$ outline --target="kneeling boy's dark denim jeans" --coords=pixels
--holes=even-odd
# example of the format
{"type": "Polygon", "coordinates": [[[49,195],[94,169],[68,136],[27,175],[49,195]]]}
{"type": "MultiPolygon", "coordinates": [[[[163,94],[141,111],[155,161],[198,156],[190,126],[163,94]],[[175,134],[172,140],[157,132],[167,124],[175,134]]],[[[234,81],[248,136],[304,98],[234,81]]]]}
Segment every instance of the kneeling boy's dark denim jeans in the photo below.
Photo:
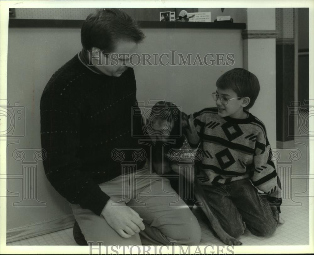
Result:
{"type": "Polygon", "coordinates": [[[210,208],[230,236],[240,237],[246,227],[256,236],[270,236],[276,231],[277,209],[267,205],[248,178],[202,187],[210,208]]]}

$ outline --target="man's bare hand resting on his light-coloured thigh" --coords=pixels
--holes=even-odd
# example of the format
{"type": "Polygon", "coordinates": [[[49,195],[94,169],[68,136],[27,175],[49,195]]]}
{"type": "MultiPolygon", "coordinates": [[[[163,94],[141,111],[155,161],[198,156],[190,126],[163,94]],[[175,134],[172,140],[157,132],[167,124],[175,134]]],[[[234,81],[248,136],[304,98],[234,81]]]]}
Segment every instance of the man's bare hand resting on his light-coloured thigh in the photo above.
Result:
{"type": "Polygon", "coordinates": [[[101,215],[124,238],[130,238],[145,229],[143,219],[124,202],[117,203],[109,199],[101,215]]]}

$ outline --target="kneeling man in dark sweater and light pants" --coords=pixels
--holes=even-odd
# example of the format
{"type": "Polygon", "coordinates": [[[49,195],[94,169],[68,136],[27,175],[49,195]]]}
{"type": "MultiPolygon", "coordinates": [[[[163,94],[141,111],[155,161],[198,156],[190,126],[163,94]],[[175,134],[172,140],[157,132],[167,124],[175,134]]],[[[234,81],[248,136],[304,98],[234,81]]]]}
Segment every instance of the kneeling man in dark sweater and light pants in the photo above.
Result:
{"type": "Polygon", "coordinates": [[[87,242],[141,244],[141,233],[150,244],[196,245],[197,219],[169,181],[152,173],[149,149],[132,136],[143,120],[131,114],[137,99],[129,56],[143,38],[122,10],[100,9],[84,21],[83,50],[53,74],[41,97],[45,173],[87,242]],[[142,152],[136,171],[123,168],[135,151],[142,152]]]}

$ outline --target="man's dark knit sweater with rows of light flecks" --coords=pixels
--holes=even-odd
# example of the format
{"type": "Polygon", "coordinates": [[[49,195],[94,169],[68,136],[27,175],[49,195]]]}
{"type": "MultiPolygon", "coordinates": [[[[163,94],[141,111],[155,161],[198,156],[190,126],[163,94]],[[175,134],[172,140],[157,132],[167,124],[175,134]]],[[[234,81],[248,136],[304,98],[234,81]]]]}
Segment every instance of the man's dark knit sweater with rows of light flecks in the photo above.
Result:
{"type": "MultiPolygon", "coordinates": [[[[98,184],[121,175],[111,151],[142,147],[131,135],[132,118],[133,129],[142,130],[142,117],[132,114],[136,102],[132,68],[111,77],[76,55],[52,75],[40,103],[43,164],[52,186],[70,203],[100,215],[110,197],[98,184]]],[[[132,161],[131,155],[124,160],[132,161]]]]}

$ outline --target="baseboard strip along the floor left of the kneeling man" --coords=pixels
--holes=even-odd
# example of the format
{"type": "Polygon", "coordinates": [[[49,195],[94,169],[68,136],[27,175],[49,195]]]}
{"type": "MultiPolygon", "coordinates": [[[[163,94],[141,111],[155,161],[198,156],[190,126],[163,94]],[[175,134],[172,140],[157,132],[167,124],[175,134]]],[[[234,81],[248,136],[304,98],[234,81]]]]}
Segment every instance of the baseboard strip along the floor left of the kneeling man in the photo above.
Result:
{"type": "Polygon", "coordinates": [[[8,229],[7,243],[71,228],[73,227],[74,221],[74,215],[69,214],[53,220],[46,220],[35,224],[8,229]]]}

